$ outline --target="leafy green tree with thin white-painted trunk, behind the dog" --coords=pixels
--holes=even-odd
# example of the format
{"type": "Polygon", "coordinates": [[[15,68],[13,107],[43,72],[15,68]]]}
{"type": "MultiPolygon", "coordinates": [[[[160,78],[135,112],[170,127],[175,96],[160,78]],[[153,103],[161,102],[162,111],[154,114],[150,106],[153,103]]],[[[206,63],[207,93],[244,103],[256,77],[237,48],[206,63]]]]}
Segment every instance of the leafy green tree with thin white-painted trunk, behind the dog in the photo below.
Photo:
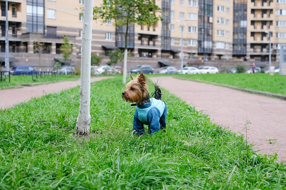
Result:
{"type": "Polygon", "coordinates": [[[127,75],[127,37],[129,26],[133,24],[153,26],[161,19],[156,12],[161,9],[152,0],[103,0],[101,7],[94,7],[94,19],[103,22],[114,20],[114,26],[126,26],[123,83],[127,75]]]}

